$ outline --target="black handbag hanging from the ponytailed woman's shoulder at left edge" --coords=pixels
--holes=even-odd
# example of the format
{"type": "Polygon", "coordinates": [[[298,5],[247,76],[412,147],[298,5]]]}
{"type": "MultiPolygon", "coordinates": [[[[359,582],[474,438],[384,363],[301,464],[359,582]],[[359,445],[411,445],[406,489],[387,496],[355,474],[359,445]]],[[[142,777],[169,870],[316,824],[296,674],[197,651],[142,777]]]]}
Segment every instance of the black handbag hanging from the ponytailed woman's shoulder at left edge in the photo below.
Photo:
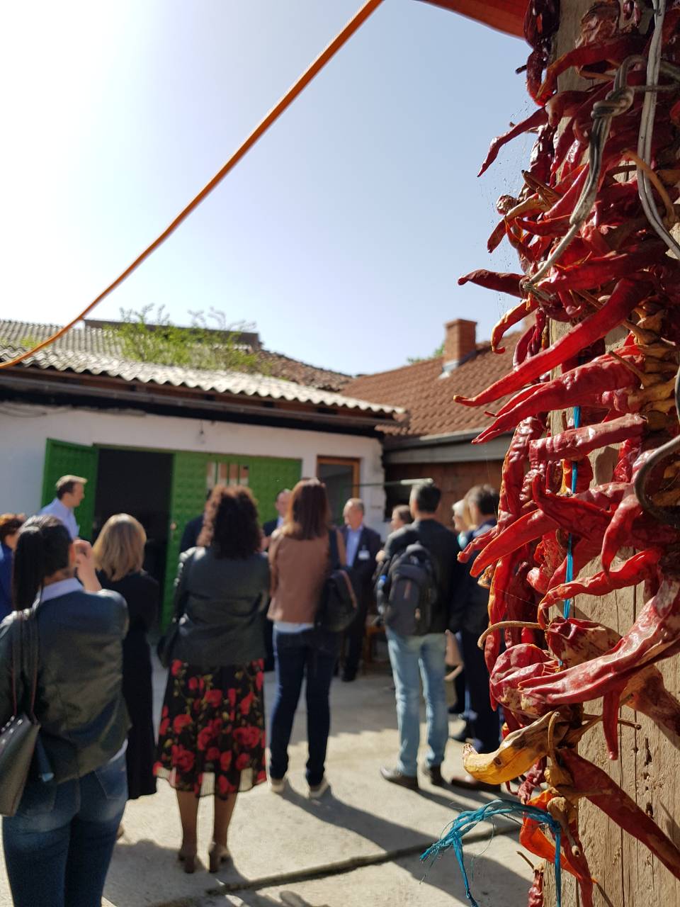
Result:
{"type": "Polygon", "coordinates": [[[14,715],[0,728],[0,815],[14,815],[24,795],[40,724],[34,715],[38,681],[38,635],[34,610],[14,612],[12,629],[14,715]],[[24,683],[21,684],[23,678],[24,683]],[[17,687],[23,689],[21,701],[17,687]]]}

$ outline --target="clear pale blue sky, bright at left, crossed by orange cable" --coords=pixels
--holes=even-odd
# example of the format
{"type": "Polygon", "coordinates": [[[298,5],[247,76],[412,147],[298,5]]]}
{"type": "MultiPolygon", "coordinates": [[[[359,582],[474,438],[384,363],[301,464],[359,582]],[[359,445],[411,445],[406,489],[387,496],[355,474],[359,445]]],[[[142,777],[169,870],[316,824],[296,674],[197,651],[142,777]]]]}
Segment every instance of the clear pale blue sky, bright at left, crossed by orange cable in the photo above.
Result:
{"type": "MultiPolygon", "coordinates": [[[[359,0],[73,0],[5,11],[4,317],[63,323],[219,170],[359,0]],[[39,12],[38,12],[39,11],[39,12]]],[[[454,317],[488,337],[516,269],[486,238],[530,141],[527,47],[385,0],[209,200],[92,317],[163,305],[254,322],[266,346],[348,372],[425,356],[454,317]],[[490,263],[491,262],[491,263],[490,263]]]]}

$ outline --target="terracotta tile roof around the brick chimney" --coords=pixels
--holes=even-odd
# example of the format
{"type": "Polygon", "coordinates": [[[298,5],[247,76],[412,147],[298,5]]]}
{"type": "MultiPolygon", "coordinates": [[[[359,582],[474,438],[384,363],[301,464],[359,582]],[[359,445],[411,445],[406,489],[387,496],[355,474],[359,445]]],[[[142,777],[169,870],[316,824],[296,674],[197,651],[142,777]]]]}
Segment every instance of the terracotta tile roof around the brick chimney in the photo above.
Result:
{"type": "MultiPolygon", "coordinates": [[[[442,377],[443,356],[416,362],[376,375],[362,375],[343,388],[344,394],[375,403],[403,406],[408,411],[401,425],[385,426],[388,434],[423,436],[481,430],[491,422],[481,409],[453,403],[454,394],[473,396],[497,381],[512,367],[512,354],[520,333],[504,339],[505,353],[491,352],[488,343],[451,374],[442,377]]],[[[500,405],[500,404],[499,404],[500,405]]]]}

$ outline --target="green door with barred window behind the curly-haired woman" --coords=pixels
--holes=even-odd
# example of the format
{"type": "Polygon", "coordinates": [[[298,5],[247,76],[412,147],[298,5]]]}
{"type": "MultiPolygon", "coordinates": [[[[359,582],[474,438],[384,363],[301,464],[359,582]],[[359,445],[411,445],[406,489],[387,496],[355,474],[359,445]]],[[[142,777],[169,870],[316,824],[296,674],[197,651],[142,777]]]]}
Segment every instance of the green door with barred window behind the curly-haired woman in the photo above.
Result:
{"type": "Polygon", "coordinates": [[[257,500],[260,522],[276,515],[274,501],[281,488],[292,488],[302,472],[302,461],[228,453],[173,455],[170,492],[170,530],[161,625],[172,616],[172,594],[184,527],[203,512],[206,493],[216,483],[247,484],[257,500]]]}

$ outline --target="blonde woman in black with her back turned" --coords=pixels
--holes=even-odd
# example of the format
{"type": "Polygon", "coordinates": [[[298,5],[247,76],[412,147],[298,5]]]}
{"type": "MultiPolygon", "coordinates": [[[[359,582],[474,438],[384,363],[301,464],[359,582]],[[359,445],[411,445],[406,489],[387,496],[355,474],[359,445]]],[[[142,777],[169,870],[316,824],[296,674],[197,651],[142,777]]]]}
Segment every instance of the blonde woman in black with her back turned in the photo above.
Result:
{"type": "Polygon", "coordinates": [[[156,580],[141,569],[145,542],[141,523],[128,513],[116,513],[94,543],[102,588],[120,592],[130,614],[130,629],[122,643],[122,694],[132,724],[126,753],[130,800],[156,793],[151,649],[146,634],[156,620],[160,592],[156,580]]]}

